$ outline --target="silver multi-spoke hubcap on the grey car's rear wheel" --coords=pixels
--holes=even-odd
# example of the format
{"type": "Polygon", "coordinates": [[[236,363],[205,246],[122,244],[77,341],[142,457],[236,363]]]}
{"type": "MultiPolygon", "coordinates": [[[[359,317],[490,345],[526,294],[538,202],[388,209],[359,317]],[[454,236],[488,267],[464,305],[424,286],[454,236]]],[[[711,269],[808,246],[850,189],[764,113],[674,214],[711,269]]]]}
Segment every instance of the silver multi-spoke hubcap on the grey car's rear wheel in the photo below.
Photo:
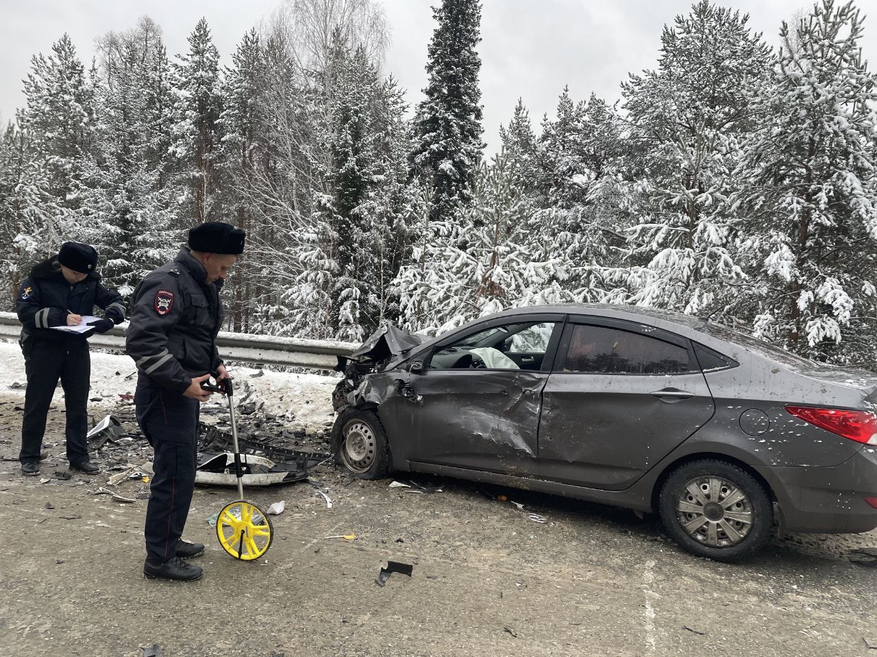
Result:
{"type": "Polygon", "coordinates": [[[755,512],[745,491],[723,477],[695,477],[676,500],[682,529],[709,548],[733,548],[752,530],[755,512]]]}

